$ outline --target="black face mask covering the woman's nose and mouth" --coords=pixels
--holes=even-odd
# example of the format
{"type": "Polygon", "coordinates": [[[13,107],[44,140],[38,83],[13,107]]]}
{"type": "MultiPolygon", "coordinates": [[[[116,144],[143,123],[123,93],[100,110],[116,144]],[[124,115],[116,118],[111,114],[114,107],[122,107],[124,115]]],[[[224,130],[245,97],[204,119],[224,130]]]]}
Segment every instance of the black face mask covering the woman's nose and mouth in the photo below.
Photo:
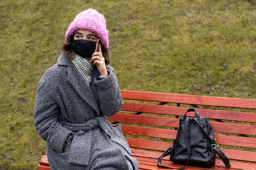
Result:
{"type": "Polygon", "coordinates": [[[95,52],[96,42],[85,39],[74,39],[72,48],[76,54],[83,58],[92,58],[92,53],[95,52]]]}

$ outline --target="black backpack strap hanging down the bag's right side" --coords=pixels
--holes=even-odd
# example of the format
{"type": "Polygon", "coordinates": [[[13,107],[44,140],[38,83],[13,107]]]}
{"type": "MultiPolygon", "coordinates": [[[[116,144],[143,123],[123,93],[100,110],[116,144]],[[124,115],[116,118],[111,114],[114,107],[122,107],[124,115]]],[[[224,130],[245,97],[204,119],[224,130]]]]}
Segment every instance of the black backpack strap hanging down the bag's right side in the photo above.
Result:
{"type": "Polygon", "coordinates": [[[229,168],[231,165],[229,164],[229,159],[226,157],[226,155],[218,148],[215,142],[211,140],[211,138],[207,135],[207,133],[204,131],[202,126],[199,124],[198,120],[196,119],[191,119],[194,120],[198,126],[200,127],[202,134],[204,135],[204,138],[207,140],[207,142],[211,145],[211,149],[213,149],[220,157],[220,159],[223,161],[225,166],[229,168]]]}

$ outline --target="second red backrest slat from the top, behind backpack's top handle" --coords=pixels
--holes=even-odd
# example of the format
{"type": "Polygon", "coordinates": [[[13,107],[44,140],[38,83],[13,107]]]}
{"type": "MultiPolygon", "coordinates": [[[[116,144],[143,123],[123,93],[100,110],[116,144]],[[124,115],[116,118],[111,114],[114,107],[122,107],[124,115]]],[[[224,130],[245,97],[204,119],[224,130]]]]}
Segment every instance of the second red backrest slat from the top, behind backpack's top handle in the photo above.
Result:
{"type": "MultiPolygon", "coordinates": [[[[141,103],[129,103],[124,102],[122,111],[134,111],[141,113],[157,113],[162,115],[174,115],[184,116],[189,107],[173,107],[173,106],[162,106],[152,104],[141,104],[141,103]]],[[[213,109],[196,109],[200,116],[204,116],[208,119],[221,119],[231,120],[238,122],[253,122],[256,123],[256,113],[239,112],[239,111],[223,111],[213,109]]],[[[189,112],[189,117],[195,117],[195,113],[189,112]]]]}

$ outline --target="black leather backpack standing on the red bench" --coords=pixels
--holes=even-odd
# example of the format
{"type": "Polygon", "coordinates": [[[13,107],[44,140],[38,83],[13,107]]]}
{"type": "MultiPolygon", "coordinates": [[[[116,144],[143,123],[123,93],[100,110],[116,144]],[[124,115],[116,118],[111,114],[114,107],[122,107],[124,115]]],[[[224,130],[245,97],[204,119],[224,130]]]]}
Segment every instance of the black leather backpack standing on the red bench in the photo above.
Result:
{"type": "Polygon", "coordinates": [[[183,169],[186,166],[214,166],[216,153],[229,168],[229,159],[216,144],[211,124],[204,116],[199,116],[195,109],[190,108],[180,119],[177,137],[173,146],[168,148],[158,159],[157,166],[170,169],[183,169]],[[186,113],[194,111],[195,118],[186,118],[186,113]],[[161,165],[163,157],[170,155],[170,160],[184,165],[182,168],[171,168],[161,165]]]}

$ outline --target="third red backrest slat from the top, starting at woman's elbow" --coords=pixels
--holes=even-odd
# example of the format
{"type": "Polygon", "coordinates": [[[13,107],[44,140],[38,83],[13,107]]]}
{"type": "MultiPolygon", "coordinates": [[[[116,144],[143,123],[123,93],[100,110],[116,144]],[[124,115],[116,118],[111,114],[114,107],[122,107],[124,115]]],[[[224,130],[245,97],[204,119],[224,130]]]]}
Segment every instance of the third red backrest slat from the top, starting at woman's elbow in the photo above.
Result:
{"type": "MultiPolygon", "coordinates": [[[[115,116],[108,117],[108,120],[116,121],[116,122],[146,124],[146,125],[153,125],[153,126],[165,126],[165,127],[179,126],[179,119],[177,118],[143,116],[143,115],[133,115],[133,114],[126,114],[126,113],[117,113],[115,116]]],[[[213,128],[213,131],[216,131],[216,132],[256,135],[256,126],[253,126],[253,125],[220,123],[220,122],[210,122],[210,124],[213,128]]]]}

